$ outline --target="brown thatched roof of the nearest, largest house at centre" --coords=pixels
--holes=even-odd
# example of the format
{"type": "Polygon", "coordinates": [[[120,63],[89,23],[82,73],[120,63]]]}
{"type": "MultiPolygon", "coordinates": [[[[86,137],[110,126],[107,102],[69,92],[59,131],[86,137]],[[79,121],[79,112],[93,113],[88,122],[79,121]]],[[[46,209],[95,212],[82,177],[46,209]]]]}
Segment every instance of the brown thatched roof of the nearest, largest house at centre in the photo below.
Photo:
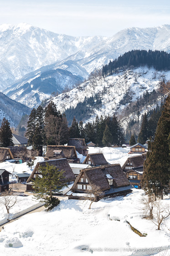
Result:
{"type": "Polygon", "coordinates": [[[129,186],[130,183],[126,178],[121,166],[119,164],[115,165],[103,165],[88,169],[83,169],[80,174],[77,176],[74,185],[72,186],[72,191],[74,191],[77,182],[79,181],[82,173],[88,179],[89,184],[95,184],[101,190],[108,190],[110,189],[110,185],[108,183],[108,178],[106,175],[109,175],[111,179],[113,178],[113,186],[114,187],[126,187],[129,186]]]}

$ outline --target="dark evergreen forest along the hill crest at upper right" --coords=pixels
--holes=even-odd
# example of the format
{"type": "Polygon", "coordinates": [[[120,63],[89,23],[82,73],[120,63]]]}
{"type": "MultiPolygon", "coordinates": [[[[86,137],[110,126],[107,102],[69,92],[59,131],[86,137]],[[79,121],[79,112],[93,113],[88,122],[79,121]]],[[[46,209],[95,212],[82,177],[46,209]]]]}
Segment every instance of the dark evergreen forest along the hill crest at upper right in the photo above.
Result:
{"type": "Polygon", "coordinates": [[[112,75],[117,69],[145,66],[156,70],[170,70],[170,54],[164,51],[132,50],[103,66],[102,75],[112,75]]]}

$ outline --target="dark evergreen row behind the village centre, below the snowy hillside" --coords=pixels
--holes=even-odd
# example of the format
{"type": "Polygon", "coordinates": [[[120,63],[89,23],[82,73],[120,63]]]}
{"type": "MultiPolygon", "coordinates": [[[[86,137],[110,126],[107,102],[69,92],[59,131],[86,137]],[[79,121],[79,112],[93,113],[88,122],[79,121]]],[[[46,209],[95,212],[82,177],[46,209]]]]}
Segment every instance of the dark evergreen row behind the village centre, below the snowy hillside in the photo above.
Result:
{"type": "Polygon", "coordinates": [[[97,146],[122,145],[124,143],[123,129],[115,115],[113,117],[96,117],[95,122],[79,123],[73,118],[70,127],[70,138],[84,138],[86,142],[92,141],[97,146]]]}

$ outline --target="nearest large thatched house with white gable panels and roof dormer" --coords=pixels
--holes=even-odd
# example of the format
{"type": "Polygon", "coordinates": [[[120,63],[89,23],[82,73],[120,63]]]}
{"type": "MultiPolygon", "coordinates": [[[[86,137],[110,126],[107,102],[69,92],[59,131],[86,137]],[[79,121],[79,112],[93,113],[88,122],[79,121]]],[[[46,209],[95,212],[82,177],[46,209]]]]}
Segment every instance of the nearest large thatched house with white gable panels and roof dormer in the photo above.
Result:
{"type": "MultiPolygon", "coordinates": [[[[83,169],[77,176],[72,186],[73,194],[69,197],[74,198],[74,193],[88,193],[93,184],[103,191],[103,197],[126,195],[133,188],[119,164],[103,165],[83,169]]],[[[82,198],[76,195],[75,199],[82,198]]]]}

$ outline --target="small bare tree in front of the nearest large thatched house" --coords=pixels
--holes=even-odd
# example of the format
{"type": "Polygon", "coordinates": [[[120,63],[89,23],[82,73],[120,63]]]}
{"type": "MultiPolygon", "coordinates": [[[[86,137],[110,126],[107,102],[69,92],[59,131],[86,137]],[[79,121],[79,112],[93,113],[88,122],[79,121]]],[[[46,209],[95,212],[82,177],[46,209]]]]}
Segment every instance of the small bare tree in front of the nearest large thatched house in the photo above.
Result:
{"type": "Polygon", "coordinates": [[[90,203],[90,206],[89,206],[89,209],[91,209],[91,205],[92,203],[95,201],[95,200],[100,200],[104,193],[103,191],[100,189],[100,187],[98,187],[97,185],[95,184],[91,184],[91,186],[89,187],[89,190],[88,190],[88,197],[87,199],[91,201],[90,203]]]}

